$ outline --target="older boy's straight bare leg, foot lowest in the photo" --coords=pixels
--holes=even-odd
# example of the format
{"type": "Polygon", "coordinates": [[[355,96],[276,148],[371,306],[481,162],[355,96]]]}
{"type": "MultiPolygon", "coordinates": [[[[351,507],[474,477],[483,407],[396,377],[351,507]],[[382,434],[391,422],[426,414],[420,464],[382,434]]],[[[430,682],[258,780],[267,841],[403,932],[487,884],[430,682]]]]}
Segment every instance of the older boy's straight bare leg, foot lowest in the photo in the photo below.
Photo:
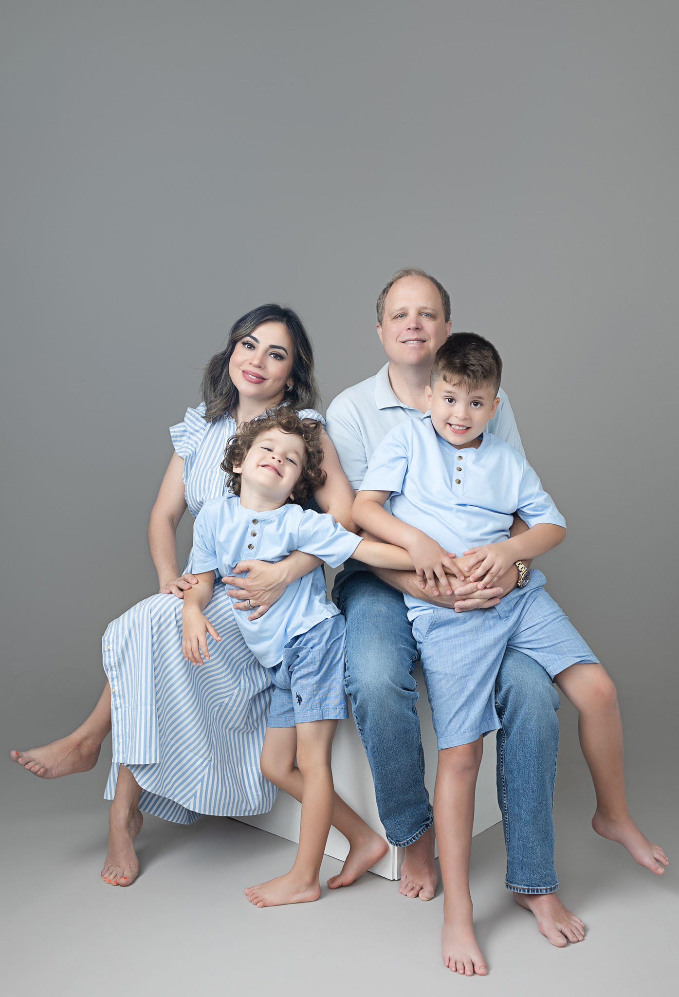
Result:
{"type": "Polygon", "coordinates": [[[483,753],[483,738],[440,751],[434,792],[434,820],[444,880],[442,955],[448,968],[461,976],[488,973],[474,933],[470,893],[474,791],[483,753]]]}

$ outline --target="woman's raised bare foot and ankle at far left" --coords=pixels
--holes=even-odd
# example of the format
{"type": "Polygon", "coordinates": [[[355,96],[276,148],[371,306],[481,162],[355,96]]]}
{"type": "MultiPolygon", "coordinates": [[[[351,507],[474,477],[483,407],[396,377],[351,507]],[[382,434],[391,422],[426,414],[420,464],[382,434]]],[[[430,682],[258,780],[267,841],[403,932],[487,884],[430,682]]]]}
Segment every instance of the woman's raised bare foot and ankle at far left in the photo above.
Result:
{"type": "Polygon", "coordinates": [[[97,765],[102,741],[111,730],[111,687],[107,679],[104,692],[84,724],[73,734],[53,741],[44,748],[27,752],[10,752],[10,758],[40,779],[59,779],[74,772],[89,772],[97,765]]]}

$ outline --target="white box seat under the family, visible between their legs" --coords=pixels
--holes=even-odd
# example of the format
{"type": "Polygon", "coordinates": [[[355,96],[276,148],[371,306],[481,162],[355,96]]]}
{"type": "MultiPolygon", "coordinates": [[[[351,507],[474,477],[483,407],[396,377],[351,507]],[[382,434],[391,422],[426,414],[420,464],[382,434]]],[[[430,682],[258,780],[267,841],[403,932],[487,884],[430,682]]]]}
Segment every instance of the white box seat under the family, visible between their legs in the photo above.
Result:
{"type": "MultiPolygon", "coordinates": [[[[418,714],[420,715],[422,745],[425,752],[425,783],[429,795],[433,799],[437,767],[436,737],[432,726],[432,711],[429,708],[425,680],[419,666],[415,671],[415,677],[420,690],[418,714]]],[[[366,824],[386,838],[377,813],[377,801],[375,800],[370,766],[353,718],[340,720],[337,725],[332,745],[332,774],[337,793],[346,800],[350,807],[353,807],[366,824]]],[[[261,828],[262,831],[278,834],[289,841],[298,841],[300,811],[301,808],[297,801],[280,790],[276,802],[268,814],[239,817],[236,820],[242,821],[243,824],[250,824],[254,828],[261,828]]],[[[481,763],[477,783],[474,833],[479,834],[481,831],[486,831],[487,828],[501,820],[502,815],[496,793],[496,739],[488,737],[485,741],[484,759],[481,763]]],[[[401,874],[403,850],[403,848],[390,845],[387,854],[379,862],[376,862],[370,871],[377,872],[378,875],[385,876],[387,879],[398,879],[401,874]]],[[[344,834],[331,828],[325,853],[332,855],[333,858],[344,859],[348,851],[349,842],[344,834]]]]}

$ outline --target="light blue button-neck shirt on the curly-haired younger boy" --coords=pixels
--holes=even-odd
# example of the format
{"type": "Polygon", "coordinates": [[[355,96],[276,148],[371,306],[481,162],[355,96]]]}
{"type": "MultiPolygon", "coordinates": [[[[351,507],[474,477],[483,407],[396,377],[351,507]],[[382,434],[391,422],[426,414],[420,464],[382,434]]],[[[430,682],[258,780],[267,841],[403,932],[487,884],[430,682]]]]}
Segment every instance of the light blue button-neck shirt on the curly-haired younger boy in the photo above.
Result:
{"type": "MultiPolygon", "coordinates": [[[[193,523],[191,570],[233,574],[240,560],[275,562],[293,550],[315,554],[337,567],[360,542],[360,536],[348,532],[328,513],[304,510],[295,504],[256,512],[243,508],[240,498],[229,495],[206,501],[198,512],[193,523]]],[[[259,619],[248,620],[246,612],[232,611],[249,649],[265,668],[272,668],[282,660],[283,648],[292,637],[335,616],[339,609],[326,597],[319,566],[291,582],[259,619]]]]}

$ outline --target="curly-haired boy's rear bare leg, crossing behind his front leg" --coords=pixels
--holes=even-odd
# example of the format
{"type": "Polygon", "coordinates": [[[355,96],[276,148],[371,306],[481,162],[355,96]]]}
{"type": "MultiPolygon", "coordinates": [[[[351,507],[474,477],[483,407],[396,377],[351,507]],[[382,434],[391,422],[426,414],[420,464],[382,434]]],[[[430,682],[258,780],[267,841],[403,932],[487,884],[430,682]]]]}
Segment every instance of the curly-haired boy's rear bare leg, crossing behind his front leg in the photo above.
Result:
{"type": "MultiPolygon", "coordinates": [[[[297,731],[294,727],[269,727],[261,753],[262,772],[266,778],[294,800],[302,802],[304,777],[295,766],[297,731]]],[[[335,793],[332,825],[349,841],[349,854],[342,871],[330,876],[328,886],[348,886],[367,872],[384,854],[389,845],[335,793]]]]}

